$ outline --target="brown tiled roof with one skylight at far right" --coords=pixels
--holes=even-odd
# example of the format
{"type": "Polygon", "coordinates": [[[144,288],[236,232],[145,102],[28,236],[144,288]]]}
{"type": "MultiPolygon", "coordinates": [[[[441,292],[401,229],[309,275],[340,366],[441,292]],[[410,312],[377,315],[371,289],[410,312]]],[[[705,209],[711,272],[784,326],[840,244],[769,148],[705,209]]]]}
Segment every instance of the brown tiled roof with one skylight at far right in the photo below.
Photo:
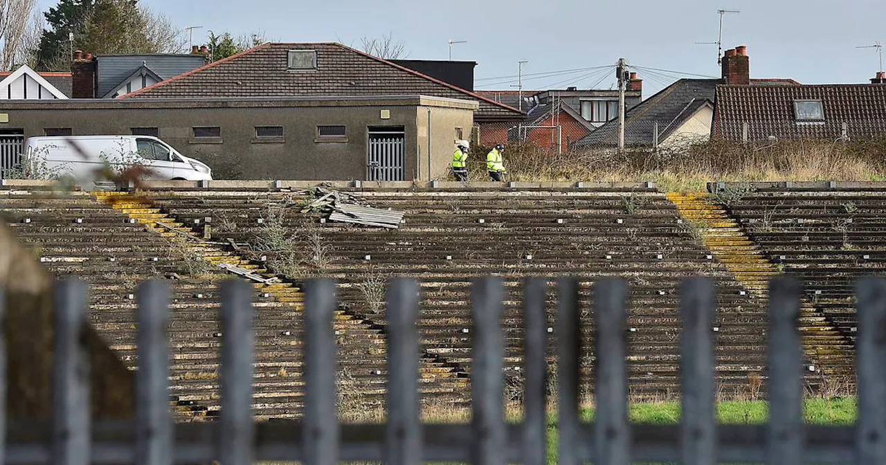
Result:
{"type": "Polygon", "coordinates": [[[742,140],[744,123],[748,138],[770,136],[836,138],[872,136],[886,132],[886,84],[832,84],[805,86],[717,86],[713,135],[742,140]],[[797,122],[796,100],[821,100],[824,121],[797,122]]]}

